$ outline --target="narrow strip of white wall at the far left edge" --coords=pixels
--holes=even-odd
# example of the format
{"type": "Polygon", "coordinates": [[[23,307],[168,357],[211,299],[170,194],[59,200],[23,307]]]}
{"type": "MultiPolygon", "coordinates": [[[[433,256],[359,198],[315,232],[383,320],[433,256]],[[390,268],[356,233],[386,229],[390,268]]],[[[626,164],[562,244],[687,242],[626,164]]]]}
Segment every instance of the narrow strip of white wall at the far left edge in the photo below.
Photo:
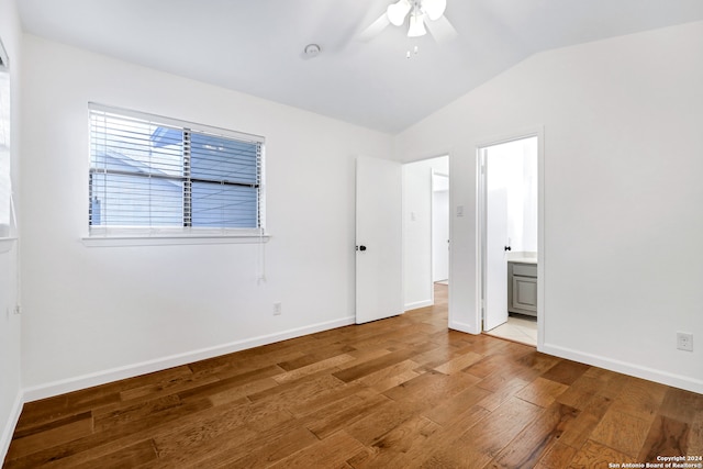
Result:
{"type": "MultiPolygon", "coordinates": [[[[12,186],[19,187],[20,166],[20,67],[22,31],[14,1],[0,1],[0,38],[10,58],[11,80],[11,165],[12,186]]],[[[16,232],[14,227],[11,234],[16,232]]],[[[20,335],[21,316],[13,314],[18,299],[18,245],[16,242],[0,242],[0,460],[12,438],[14,425],[20,416],[21,373],[20,335]]]]}

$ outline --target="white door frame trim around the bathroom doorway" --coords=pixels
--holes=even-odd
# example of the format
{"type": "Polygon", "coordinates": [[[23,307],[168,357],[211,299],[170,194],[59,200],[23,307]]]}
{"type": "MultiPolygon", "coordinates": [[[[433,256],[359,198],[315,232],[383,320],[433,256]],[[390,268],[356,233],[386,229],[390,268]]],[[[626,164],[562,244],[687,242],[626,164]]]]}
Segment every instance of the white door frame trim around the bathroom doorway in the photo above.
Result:
{"type": "Polygon", "coordinates": [[[537,350],[544,347],[545,326],[545,161],[544,126],[538,125],[498,137],[478,141],[476,144],[476,315],[477,331],[483,332],[483,303],[486,293],[486,221],[487,221],[487,172],[482,150],[509,142],[537,137],[537,350]]]}

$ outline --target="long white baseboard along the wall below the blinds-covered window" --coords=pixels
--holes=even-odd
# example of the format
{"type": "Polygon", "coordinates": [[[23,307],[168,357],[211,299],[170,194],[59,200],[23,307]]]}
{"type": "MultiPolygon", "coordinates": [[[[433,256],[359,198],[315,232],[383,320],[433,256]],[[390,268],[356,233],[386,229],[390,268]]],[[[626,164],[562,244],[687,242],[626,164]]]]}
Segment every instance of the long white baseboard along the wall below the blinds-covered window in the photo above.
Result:
{"type": "MultiPolygon", "coordinates": [[[[37,401],[40,399],[51,398],[54,395],[64,394],[66,392],[78,391],[80,389],[105,384],[108,382],[118,381],[121,379],[133,378],[140,375],[160,371],[172,367],[179,367],[182,365],[191,364],[193,361],[232,354],[235,351],[245,350],[247,348],[258,347],[260,345],[268,345],[276,342],[287,340],[289,338],[300,337],[308,334],[314,334],[316,332],[328,331],[354,323],[355,317],[348,316],[341,320],[312,324],[305,327],[288,330],[276,334],[263,335],[245,340],[236,340],[215,347],[201,348],[198,350],[177,354],[169,357],[157,358],[140,364],[133,364],[104,371],[98,371],[94,373],[67,378],[46,384],[34,386],[24,389],[24,402],[37,401]]],[[[14,426],[12,428],[14,428],[14,426]]],[[[10,433],[10,436],[11,435],[12,433],[10,433]]]]}

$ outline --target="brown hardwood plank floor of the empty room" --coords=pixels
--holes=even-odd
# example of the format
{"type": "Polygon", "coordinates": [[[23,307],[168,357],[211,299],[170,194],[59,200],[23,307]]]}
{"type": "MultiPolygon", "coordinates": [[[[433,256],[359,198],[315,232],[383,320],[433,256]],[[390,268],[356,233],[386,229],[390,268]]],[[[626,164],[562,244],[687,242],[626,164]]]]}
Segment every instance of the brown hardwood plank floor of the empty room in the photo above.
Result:
{"type": "Polygon", "coordinates": [[[27,403],[3,467],[607,468],[703,456],[703,395],[447,331],[437,288],[434,308],[27,403]]]}

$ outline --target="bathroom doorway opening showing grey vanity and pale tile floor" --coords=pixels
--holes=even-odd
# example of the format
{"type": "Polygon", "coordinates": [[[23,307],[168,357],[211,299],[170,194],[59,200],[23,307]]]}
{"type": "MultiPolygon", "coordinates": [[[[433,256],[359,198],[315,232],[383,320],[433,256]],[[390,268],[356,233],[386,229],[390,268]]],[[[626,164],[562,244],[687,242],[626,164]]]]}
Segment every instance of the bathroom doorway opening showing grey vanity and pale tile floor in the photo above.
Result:
{"type": "Polygon", "coordinates": [[[521,135],[477,152],[482,331],[534,346],[539,319],[539,148],[538,135],[521,135]],[[526,298],[534,308],[524,304],[526,298]]]}

